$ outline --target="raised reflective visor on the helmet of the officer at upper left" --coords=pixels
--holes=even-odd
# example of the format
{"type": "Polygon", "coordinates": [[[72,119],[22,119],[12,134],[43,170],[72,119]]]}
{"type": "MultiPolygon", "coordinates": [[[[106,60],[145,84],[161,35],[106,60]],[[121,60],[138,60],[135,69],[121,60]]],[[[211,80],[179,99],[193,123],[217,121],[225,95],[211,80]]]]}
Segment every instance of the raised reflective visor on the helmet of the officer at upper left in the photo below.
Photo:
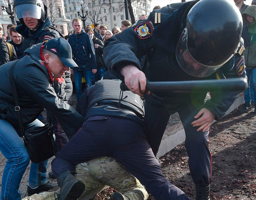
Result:
{"type": "Polygon", "coordinates": [[[36,4],[19,4],[14,7],[14,12],[17,14],[18,19],[24,17],[40,19],[42,8],[36,4]]]}

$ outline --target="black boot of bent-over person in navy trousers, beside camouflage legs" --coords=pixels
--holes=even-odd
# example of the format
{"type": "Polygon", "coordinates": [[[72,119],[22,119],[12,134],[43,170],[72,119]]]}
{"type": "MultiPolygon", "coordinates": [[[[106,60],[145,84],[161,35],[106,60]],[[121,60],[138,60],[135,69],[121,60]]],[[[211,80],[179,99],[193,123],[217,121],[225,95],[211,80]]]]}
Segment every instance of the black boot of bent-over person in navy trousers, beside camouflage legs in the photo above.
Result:
{"type": "Polygon", "coordinates": [[[84,192],[85,185],[70,171],[60,174],[57,182],[61,187],[59,200],[77,200],[84,192]]]}

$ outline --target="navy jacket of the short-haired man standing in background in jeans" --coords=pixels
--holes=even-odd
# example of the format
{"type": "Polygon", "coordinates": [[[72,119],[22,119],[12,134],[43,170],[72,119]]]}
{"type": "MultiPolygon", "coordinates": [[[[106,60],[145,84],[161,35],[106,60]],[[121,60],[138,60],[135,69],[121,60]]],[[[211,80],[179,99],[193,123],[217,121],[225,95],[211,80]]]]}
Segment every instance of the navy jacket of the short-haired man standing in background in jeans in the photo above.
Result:
{"type": "Polygon", "coordinates": [[[94,45],[89,34],[82,31],[68,37],[68,43],[72,48],[73,60],[78,65],[76,71],[97,69],[94,45]]]}

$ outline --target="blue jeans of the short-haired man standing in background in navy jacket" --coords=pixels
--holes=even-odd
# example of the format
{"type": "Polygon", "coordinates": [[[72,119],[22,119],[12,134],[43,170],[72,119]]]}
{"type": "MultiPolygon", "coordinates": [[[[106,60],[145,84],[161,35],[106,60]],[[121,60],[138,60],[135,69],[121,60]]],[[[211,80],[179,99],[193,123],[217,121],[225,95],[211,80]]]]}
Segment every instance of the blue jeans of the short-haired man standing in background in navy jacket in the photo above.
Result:
{"type": "Polygon", "coordinates": [[[76,98],[77,101],[82,96],[82,77],[84,77],[86,86],[92,85],[92,70],[86,71],[76,71],[74,70],[74,79],[75,79],[75,86],[76,86],[76,98]]]}

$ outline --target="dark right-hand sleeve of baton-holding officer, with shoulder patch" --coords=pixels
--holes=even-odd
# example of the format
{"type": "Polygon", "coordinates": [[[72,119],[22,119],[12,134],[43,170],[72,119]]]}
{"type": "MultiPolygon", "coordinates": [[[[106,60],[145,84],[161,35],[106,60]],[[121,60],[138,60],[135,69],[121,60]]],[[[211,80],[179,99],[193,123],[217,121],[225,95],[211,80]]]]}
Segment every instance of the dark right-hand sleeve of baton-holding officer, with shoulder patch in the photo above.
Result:
{"type": "MultiPolygon", "coordinates": [[[[237,53],[228,61],[224,66],[215,73],[217,79],[220,78],[245,78],[245,63],[244,63],[244,46],[243,41],[240,40],[240,47],[237,53]]],[[[207,100],[204,104],[204,108],[212,111],[216,116],[216,120],[219,120],[228,108],[233,104],[237,98],[238,92],[230,91],[214,91],[211,92],[211,99],[207,100]]]]}

